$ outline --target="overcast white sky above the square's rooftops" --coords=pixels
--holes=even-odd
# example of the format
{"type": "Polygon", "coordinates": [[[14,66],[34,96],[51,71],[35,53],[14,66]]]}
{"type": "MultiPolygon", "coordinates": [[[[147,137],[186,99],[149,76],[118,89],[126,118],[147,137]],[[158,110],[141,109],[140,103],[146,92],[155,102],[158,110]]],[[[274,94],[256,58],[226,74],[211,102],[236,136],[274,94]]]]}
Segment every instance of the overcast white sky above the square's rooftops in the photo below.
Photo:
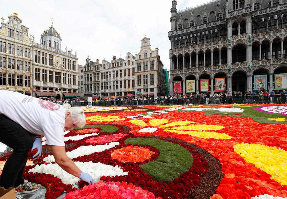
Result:
{"type": "MultiPolygon", "coordinates": [[[[182,10],[205,0],[177,0],[182,10]]],[[[0,15],[5,23],[14,12],[29,28],[29,34],[40,43],[40,35],[51,26],[62,36],[62,49],[77,50],[78,64],[85,65],[87,55],[92,61],[125,58],[140,51],[141,39],[150,38],[151,49],[159,49],[164,68],[169,69],[170,8],[172,0],[81,0],[81,1],[1,1],[0,15]]]]}

